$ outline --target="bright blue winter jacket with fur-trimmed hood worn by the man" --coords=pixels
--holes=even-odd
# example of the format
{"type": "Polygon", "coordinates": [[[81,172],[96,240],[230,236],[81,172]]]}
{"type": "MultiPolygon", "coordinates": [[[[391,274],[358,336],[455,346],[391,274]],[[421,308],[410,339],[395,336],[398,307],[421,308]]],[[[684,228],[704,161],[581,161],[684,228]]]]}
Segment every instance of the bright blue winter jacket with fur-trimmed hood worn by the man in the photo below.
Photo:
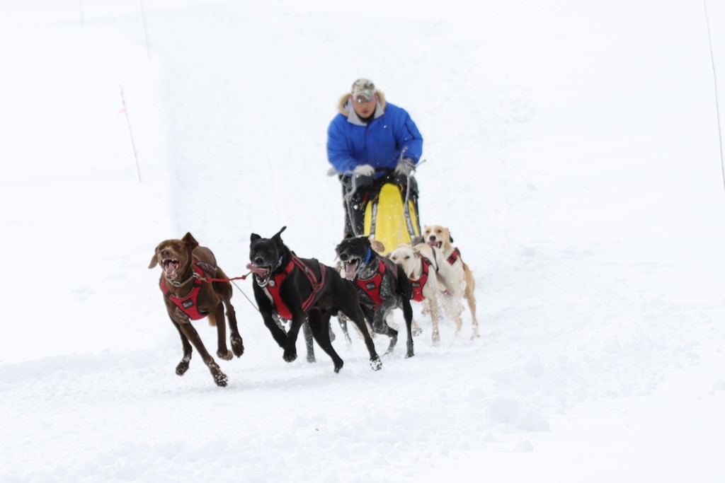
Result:
{"type": "Polygon", "coordinates": [[[327,132],[327,157],[337,172],[349,175],[360,164],[376,169],[394,168],[400,151],[417,164],[423,154],[423,136],[410,115],[394,104],[386,103],[378,91],[375,117],[365,125],[350,104],[350,96],[341,99],[339,110],[327,132]]]}

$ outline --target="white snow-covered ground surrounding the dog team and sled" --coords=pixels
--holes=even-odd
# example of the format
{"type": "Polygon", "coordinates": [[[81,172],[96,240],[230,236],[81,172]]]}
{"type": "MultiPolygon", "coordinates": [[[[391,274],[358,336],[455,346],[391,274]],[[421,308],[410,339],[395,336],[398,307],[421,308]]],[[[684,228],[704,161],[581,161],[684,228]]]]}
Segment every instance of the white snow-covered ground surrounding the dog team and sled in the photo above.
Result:
{"type": "MultiPolygon", "coordinates": [[[[725,76],[725,4],[706,6],[725,76]]],[[[2,3],[0,481],[725,481],[704,7],[2,3]],[[286,364],[235,288],[228,387],[198,356],[176,376],[155,245],[189,231],[239,276],[250,233],[286,225],[333,264],[326,128],[357,77],[425,137],[421,221],[473,269],[481,337],[466,311],[434,347],[416,307],[415,357],[374,372],[334,324],[334,374],[319,349],[286,364]]]]}

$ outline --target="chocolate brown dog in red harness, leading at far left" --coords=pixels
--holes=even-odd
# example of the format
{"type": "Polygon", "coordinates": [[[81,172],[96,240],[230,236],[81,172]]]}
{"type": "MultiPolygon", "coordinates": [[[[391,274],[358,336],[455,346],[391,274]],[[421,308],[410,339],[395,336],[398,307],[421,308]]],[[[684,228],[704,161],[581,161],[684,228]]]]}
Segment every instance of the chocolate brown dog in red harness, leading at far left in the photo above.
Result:
{"type": "Polygon", "coordinates": [[[209,324],[217,327],[217,356],[228,361],[244,353],[244,344],[236,327],[236,313],[231,305],[232,288],[227,276],[217,266],[214,254],[209,248],[199,246],[191,233],[181,240],[164,240],[156,247],[149,269],[160,265],[162,275],[159,287],[164,293],[166,311],[171,322],[181,335],[183,358],[176,366],[176,374],[183,376],[191,360],[191,344],[204,359],[219,386],[227,384],[226,375],[219,369],[214,358],[204,348],[199,333],[191,325],[191,320],[209,318],[209,324]],[[215,279],[214,281],[209,281],[215,279]],[[226,324],[224,308],[229,319],[231,348],[226,346],[226,324]]]}

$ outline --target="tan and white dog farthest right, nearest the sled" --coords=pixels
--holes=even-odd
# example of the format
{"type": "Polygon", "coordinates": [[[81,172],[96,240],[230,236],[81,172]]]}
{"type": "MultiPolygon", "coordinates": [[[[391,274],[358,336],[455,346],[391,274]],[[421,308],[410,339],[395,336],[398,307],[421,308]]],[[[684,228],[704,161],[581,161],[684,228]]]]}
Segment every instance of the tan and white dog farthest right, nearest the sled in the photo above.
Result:
{"type": "Polygon", "coordinates": [[[476,280],[473,273],[460,256],[460,251],[455,248],[450,230],[439,224],[426,225],[423,229],[423,240],[431,247],[438,248],[444,260],[438,260],[439,274],[443,283],[450,293],[448,298],[452,302],[452,316],[456,324],[456,332],[460,332],[463,325],[461,314],[463,306],[461,298],[468,302],[468,309],[471,310],[471,323],[473,332],[471,338],[479,337],[479,322],[476,319],[476,280]]]}

